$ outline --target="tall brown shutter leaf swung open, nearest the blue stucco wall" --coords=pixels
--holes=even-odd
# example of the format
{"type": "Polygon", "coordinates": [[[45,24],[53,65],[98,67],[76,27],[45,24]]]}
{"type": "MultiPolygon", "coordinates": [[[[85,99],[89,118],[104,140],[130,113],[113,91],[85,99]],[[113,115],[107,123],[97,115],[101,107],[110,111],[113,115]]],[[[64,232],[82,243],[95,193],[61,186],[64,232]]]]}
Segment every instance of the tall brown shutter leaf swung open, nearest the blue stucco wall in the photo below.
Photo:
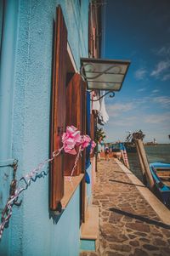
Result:
{"type": "MultiPolygon", "coordinates": [[[[67,29],[60,6],[54,30],[54,72],[51,105],[51,156],[61,146],[65,130],[67,29]]],[[[50,208],[56,210],[64,195],[63,153],[54,158],[50,168],[50,208]]]]}

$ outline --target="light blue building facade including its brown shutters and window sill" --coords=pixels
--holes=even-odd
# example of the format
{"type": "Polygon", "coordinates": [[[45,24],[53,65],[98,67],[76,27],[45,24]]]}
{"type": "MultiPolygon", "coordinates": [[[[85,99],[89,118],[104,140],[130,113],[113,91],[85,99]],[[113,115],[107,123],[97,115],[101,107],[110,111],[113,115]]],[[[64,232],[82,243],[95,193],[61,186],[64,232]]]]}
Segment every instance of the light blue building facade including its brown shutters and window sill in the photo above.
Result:
{"type": "MultiPolygon", "coordinates": [[[[87,132],[80,59],[99,57],[98,22],[88,29],[89,20],[96,18],[91,6],[88,0],[1,1],[1,214],[11,181],[26,187],[20,178],[59,149],[67,125],[87,132]]],[[[94,137],[94,117],[91,123],[94,137]]],[[[93,164],[85,168],[83,156],[70,182],[75,157],[61,153],[20,193],[22,202],[13,206],[3,229],[0,255],[79,254],[93,183],[86,184],[84,174],[94,180],[95,160],[91,155],[93,164]]]]}

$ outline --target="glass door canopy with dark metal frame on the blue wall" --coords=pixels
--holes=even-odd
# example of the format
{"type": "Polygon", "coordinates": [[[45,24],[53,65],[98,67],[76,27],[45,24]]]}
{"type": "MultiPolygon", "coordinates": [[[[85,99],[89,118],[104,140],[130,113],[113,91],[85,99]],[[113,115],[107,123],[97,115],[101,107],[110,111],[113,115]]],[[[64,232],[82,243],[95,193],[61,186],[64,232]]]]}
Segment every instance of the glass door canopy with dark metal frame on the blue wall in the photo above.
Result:
{"type": "Polygon", "coordinates": [[[129,65],[129,60],[82,58],[81,73],[88,89],[120,91],[129,65]]]}

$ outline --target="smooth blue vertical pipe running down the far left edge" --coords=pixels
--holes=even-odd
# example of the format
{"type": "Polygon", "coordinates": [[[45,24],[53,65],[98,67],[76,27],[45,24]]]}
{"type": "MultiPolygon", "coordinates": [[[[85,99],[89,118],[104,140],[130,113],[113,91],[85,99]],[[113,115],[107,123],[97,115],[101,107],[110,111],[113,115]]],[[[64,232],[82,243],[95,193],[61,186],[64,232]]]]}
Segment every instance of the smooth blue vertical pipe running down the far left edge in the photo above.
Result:
{"type": "MultiPolygon", "coordinates": [[[[6,1],[4,12],[5,22],[0,58],[0,162],[2,164],[8,158],[13,157],[12,127],[18,7],[17,1],[6,1]]],[[[11,171],[11,168],[0,168],[0,213],[8,199],[9,185],[12,179],[11,171]]],[[[9,232],[9,229],[4,232],[3,241],[0,244],[0,255],[9,253],[9,232]]]]}

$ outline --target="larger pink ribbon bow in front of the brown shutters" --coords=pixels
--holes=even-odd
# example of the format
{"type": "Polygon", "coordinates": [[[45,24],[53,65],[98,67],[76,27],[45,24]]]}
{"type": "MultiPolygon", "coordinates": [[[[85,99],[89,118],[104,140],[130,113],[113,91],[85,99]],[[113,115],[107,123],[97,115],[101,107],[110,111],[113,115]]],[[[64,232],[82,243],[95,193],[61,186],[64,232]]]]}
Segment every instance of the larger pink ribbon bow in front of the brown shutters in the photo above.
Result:
{"type": "Polygon", "coordinates": [[[62,142],[66,153],[76,155],[77,151],[75,150],[75,145],[81,143],[80,131],[73,125],[67,126],[66,133],[62,136],[62,142]]]}

